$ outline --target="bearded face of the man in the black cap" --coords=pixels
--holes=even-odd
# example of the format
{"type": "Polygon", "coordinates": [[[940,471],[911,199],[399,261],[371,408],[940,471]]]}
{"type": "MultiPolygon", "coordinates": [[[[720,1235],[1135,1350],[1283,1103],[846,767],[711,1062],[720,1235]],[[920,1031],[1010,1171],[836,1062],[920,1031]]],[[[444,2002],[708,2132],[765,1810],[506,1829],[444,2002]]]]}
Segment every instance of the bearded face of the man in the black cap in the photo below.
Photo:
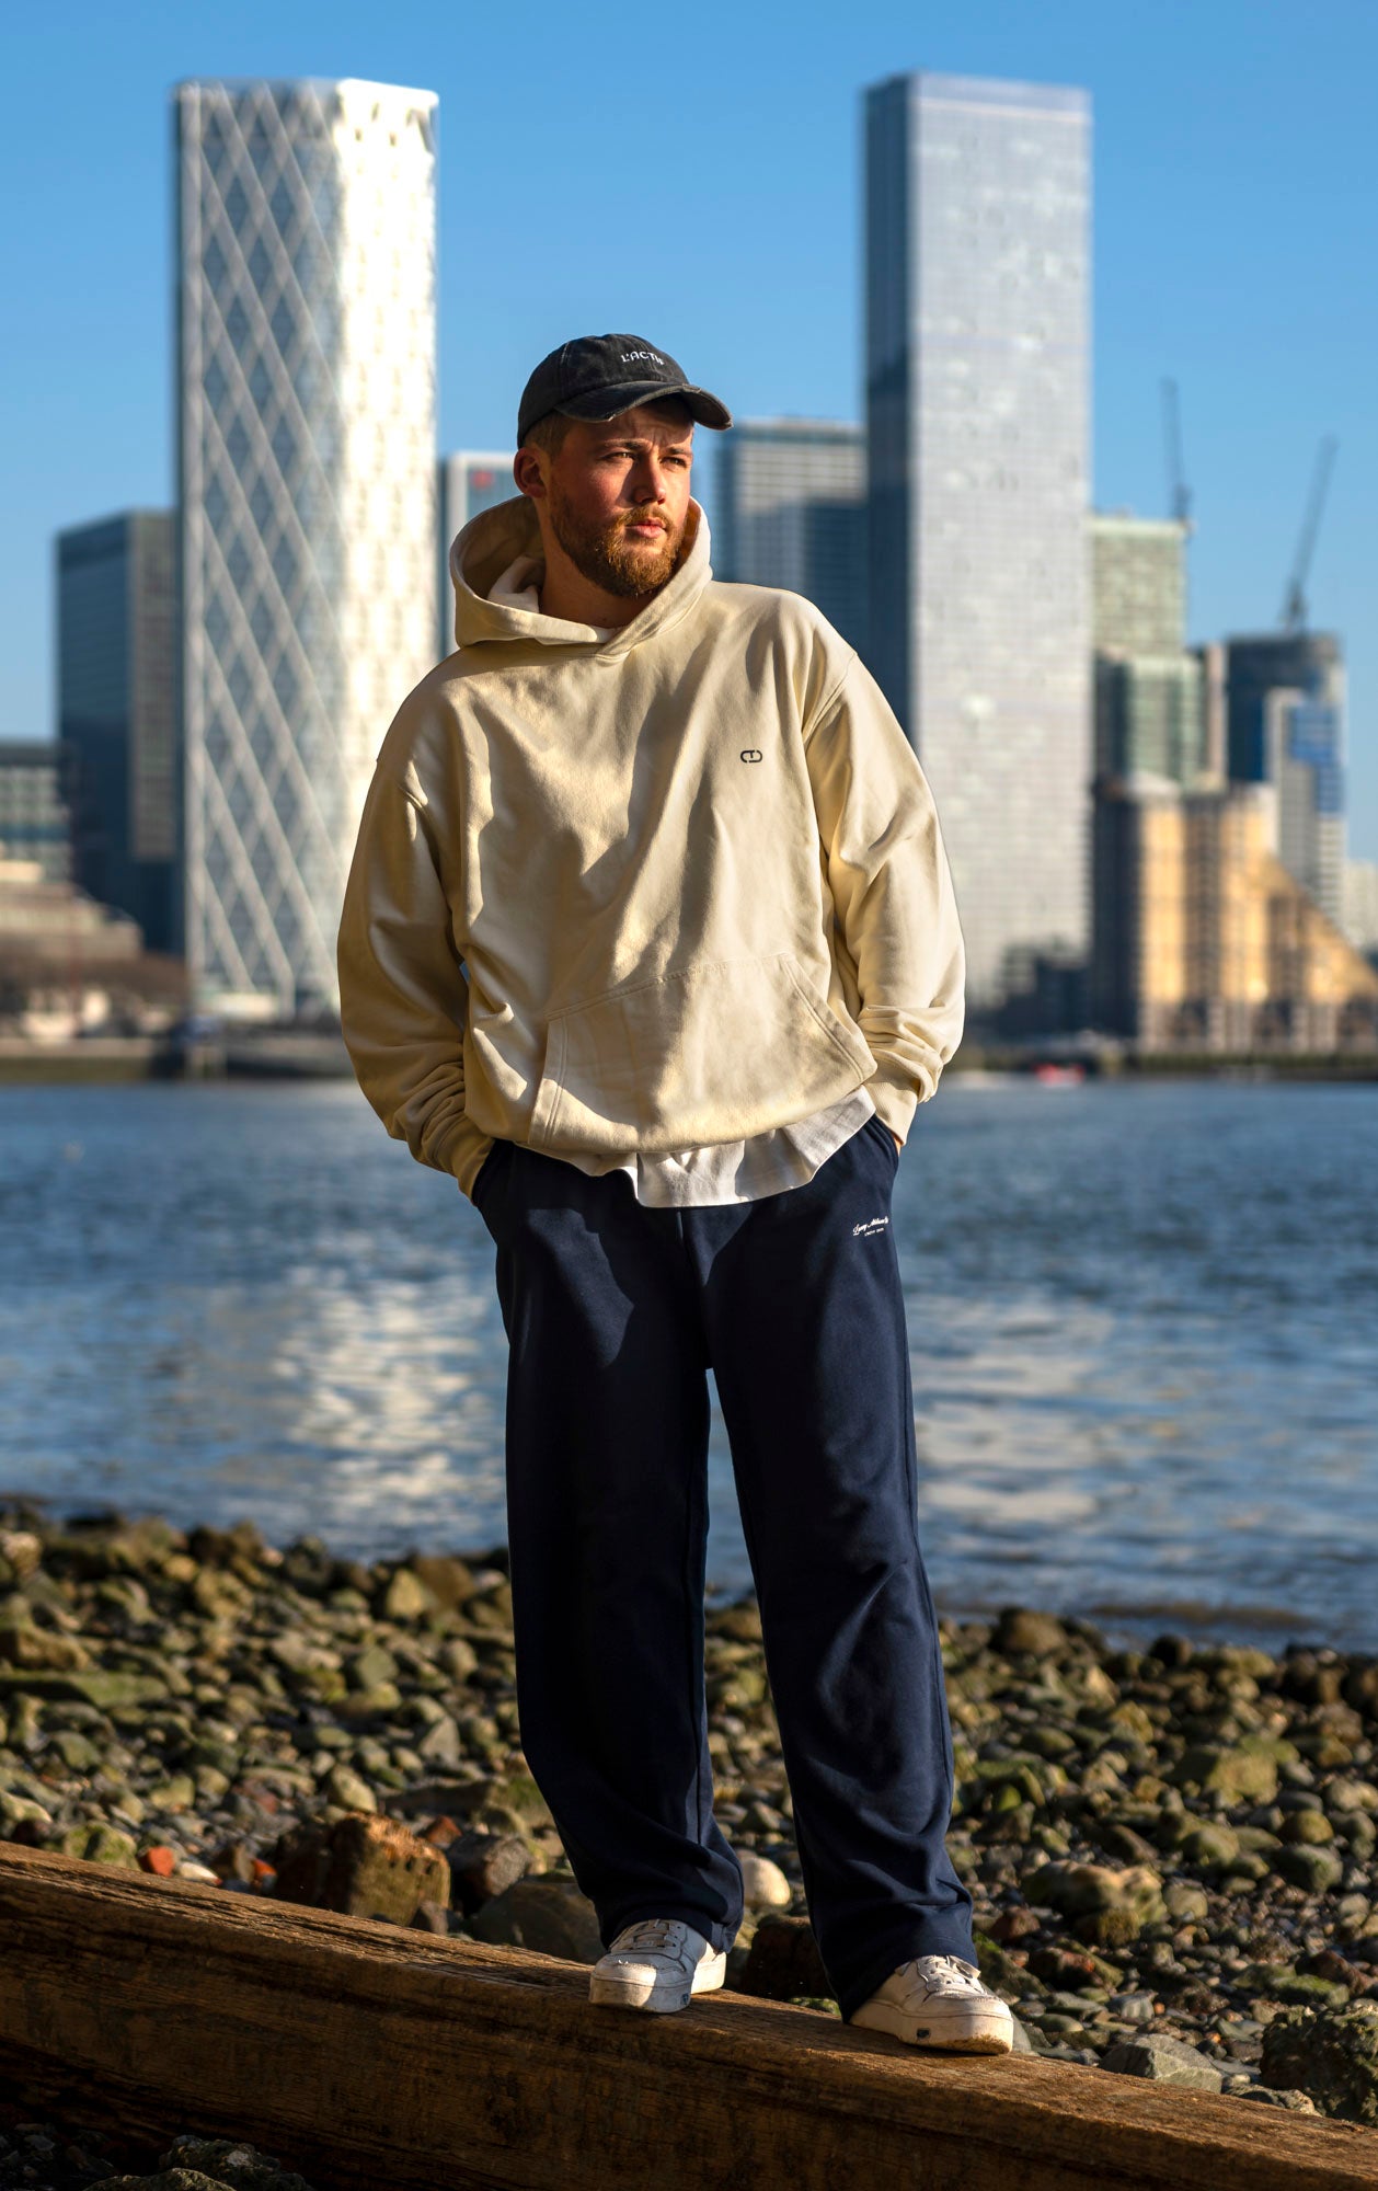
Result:
{"type": "Polygon", "coordinates": [[[622,600],[675,570],[690,502],[694,425],[679,403],[574,418],[546,467],[550,530],[574,567],[622,600]]]}

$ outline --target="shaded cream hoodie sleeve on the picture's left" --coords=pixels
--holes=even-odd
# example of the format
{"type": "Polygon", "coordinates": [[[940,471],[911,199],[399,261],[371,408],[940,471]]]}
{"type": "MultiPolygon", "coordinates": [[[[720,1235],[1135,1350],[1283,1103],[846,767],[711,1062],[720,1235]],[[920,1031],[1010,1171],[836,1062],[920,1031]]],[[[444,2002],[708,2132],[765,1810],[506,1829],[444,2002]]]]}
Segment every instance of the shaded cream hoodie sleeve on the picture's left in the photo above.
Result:
{"type": "Polygon", "coordinates": [[[464,1194],[493,1146],[464,1115],[467,1008],[425,811],[379,769],[344,890],[340,1023],[388,1133],[464,1194]]]}

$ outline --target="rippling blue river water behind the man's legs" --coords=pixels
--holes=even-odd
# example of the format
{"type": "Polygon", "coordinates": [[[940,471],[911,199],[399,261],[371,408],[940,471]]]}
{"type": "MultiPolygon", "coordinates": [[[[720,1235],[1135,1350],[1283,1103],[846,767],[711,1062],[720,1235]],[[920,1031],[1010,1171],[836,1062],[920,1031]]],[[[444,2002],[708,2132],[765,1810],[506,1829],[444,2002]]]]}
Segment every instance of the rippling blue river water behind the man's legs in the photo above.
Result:
{"type": "MultiPolygon", "coordinates": [[[[1378,1089],[949,1080],[896,1183],[942,1606],[1378,1650],[1378,1089]]],[[[504,1536],[478,1214],[346,1085],[0,1089],[0,1494],[504,1536]]],[[[710,1575],[747,1584],[714,1418],[710,1575]]]]}

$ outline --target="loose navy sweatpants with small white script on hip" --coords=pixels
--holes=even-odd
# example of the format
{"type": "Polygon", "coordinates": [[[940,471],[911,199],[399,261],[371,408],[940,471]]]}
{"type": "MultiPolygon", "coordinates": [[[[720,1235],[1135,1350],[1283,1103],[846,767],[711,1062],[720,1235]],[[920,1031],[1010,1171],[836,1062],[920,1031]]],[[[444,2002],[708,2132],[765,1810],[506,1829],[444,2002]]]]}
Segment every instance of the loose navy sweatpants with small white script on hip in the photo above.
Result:
{"type": "Polygon", "coordinates": [[[712,1367],[808,1911],[843,2016],[914,1954],[973,1957],[944,1849],[953,1751],[916,1536],[914,1404],[876,1117],[808,1185],[648,1209],[495,1144],[475,1203],[510,1341],[517,1705],[605,1943],[743,1913],[703,1698],[712,1367]]]}

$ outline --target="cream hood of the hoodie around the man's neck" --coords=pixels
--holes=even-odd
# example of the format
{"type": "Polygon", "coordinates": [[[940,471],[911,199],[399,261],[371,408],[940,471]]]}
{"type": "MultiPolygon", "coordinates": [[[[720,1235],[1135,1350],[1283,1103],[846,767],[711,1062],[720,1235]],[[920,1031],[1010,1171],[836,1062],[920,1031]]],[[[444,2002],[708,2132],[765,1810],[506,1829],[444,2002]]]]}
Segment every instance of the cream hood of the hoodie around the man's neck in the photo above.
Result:
{"type": "Polygon", "coordinates": [[[688,616],[712,578],[708,517],[697,502],[690,502],[684,539],[679,565],[659,594],[653,594],[646,607],[620,631],[605,633],[594,624],[572,624],[561,616],[541,616],[537,609],[515,609],[489,600],[489,589],[517,557],[541,554],[537,513],[526,495],[513,495],[510,502],[499,502],[471,517],[449,550],[456,644],[480,646],[493,640],[521,640],[528,646],[589,646],[605,655],[629,655],[633,646],[642,646],[688,616]]]}

